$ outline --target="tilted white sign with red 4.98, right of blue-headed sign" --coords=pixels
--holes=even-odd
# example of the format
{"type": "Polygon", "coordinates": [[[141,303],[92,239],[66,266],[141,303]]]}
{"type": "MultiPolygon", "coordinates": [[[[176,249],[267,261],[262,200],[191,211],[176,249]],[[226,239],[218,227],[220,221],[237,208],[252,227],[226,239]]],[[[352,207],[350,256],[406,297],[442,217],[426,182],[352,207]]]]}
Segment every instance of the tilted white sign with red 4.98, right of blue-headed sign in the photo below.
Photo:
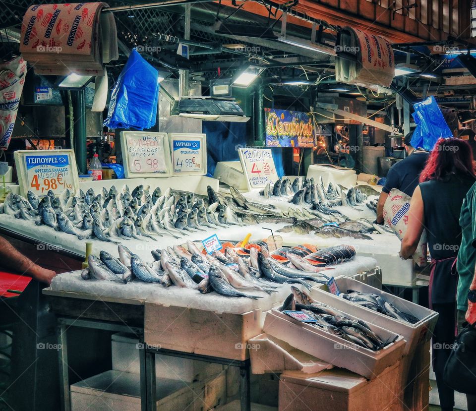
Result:
{"type": "Polygon", "coordinates": [[[279,178],[269,148],[240,148],[239,160],[250,190],[273,185],[279,178]]]}

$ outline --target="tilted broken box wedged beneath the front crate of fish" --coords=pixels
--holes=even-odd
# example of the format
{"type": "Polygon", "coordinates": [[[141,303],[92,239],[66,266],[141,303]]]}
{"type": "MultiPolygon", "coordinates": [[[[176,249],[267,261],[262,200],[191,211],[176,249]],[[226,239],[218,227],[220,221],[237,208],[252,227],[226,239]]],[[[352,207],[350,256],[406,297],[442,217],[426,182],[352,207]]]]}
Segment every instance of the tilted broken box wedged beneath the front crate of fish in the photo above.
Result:
{"type": "Polygon", "coordinates": [[[253,374],[281,373],[292,370],[309,374],[332,368],[331,364],[297,350],[269,334],[260,334],[251,338],[248,344],[253,374]]]}

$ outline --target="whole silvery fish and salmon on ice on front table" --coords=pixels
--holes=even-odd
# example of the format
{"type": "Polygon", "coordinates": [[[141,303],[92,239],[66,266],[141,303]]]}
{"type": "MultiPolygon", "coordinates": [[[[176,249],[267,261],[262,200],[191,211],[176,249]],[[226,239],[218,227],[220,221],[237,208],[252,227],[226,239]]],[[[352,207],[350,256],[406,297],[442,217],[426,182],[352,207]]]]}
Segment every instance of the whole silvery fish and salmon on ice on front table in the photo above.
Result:
{"type": "Polygon", "coordinates": [[[202,294],[215,291],[224,296],[261,298],[248,294],[276,292],[277,285],[301,284],[310,289],[309,282],[323,284],[329,277],[323,273],[325,265],[347,261],[355,255],[348,246],[332,247],[333,251],[315,252],[305,246],[288,249],[286,261],[280,253],[270,254],[266,242],[255,241],[247,248],[226,246],[224,252],[203,254],[195,243],[151,251],[154,261],[146,263],[124,245],[119,245],[119,259],[101,251],[99,257],[88,258],[89,268],[84,280],[112,280],[123,283],[143,281],[198,290],[202,294]],[[306,248],[307,258],[298,255],[306,248]]]}

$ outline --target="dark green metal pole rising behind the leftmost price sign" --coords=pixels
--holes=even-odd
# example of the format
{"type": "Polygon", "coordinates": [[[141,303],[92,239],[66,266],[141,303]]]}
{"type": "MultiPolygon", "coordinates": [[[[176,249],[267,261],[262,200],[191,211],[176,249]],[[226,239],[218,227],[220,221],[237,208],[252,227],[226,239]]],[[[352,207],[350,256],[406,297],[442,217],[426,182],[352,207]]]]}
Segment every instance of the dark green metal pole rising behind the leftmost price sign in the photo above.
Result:
{"type": "Polygon", "coordinates": [[[71,100],[73,103],[74,154],[79,174],[86,174],[86,95],[84,90],[72,91],[71,100]]]}

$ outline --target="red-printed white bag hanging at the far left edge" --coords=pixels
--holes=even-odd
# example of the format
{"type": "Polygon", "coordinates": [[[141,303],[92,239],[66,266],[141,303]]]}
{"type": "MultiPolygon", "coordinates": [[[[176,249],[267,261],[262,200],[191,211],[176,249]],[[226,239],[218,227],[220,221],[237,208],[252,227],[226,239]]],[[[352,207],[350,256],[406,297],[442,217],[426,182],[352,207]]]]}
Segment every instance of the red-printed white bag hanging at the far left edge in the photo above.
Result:
{"type": "Polygon", "coordinates": [[[0,64],[0,150],[10,144],[25,73],[26,61],[21,56],[0,64]]]}

